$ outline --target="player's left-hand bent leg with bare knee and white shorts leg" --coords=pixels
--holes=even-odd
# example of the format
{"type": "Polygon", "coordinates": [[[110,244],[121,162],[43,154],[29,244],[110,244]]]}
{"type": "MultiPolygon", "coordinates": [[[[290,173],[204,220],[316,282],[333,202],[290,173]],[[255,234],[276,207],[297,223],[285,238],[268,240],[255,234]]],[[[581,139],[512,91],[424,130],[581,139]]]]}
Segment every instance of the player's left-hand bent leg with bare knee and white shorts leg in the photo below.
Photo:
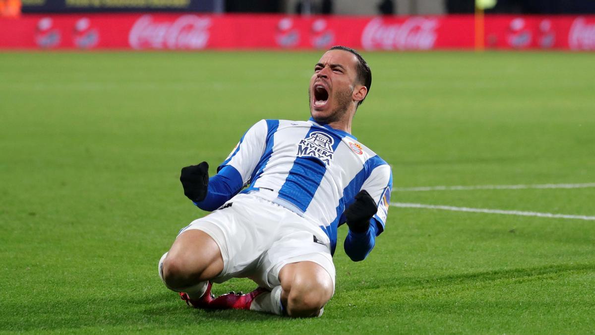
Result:
{"type": "MultiPolygon", "coordinates": [[[[254,217],[262,214],[252,198],[240,194],[227,203],[229,206],[180,231],[159,264],[159,274],[169,289],[185,292],[190,300],[196,300],[209,290],[208,281],[223,283],[229,278],[245,277],[243,272],[273,243],[266,229],[253,229],[249,224],[260,222],[254,217]]],[[[196,306],[194,301],[191,303],[196,306]]]]}

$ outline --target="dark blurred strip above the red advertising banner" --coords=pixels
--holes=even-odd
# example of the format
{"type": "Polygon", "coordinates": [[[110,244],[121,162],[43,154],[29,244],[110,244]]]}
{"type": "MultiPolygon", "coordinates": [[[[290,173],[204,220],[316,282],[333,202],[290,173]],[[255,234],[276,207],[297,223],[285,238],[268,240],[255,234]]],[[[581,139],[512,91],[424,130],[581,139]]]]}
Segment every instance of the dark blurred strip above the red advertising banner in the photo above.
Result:
{"type": "MultiPolygon", "coordinates": [[[[474,0],[2,0],[23,13],[76,11],[198,11],[212,13],[284,13],[340,15],[437,15],[473,13],[474,0]]],[[[577,14],[595,13],[588,0],[499,0],[490,13],[577,14]]]]}

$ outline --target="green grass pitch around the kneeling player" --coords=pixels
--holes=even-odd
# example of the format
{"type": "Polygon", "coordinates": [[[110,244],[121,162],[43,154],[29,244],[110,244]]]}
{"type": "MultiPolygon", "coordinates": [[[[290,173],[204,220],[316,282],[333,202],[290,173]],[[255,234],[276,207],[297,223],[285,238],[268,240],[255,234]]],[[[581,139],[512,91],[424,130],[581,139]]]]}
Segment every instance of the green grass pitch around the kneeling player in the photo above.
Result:
{"type": "MultiPolygon", "coordinates": [[[[322,52],[0,54],[0,332],[593,333],[595,221],[392,207],[364,262],[340,229],[322,318],[187,308],[157,275],[260,119],[307,119],[322,52]]],[[[595,182],[588,53],[364,54],[353,134],[395,187],[595,182]]],[[[595,188],[398,191],[393,202],[595,215],[595,188]]],[[[214,293],[252,290],[231,280],[214,293]]]]}

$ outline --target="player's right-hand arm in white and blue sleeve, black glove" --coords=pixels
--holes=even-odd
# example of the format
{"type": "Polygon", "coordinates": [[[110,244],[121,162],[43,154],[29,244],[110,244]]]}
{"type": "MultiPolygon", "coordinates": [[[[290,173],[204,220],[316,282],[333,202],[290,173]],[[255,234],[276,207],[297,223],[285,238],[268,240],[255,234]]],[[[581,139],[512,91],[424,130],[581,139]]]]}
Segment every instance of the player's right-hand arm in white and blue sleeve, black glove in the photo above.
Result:
{"type": "Polygon", "coordinates": [[[384,231],[392,187],[390,166],[377,166],[345,210],[349,232],[343,247],[354,262],[364,260],[369,255],[374,249],[376,237],[384,231]]]}

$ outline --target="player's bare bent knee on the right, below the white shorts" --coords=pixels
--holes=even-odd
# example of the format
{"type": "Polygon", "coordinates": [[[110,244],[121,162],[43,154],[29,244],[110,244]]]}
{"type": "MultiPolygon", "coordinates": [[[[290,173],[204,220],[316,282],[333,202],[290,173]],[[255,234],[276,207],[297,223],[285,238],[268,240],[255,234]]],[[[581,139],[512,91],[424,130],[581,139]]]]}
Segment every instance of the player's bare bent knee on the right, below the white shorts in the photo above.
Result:
{"type": "Polygon", "coordinates": [[[290,263],[279,272],[281,303],[290,317],[316,317],[333,297],[328,271],[314,262],[290,263]]]}

